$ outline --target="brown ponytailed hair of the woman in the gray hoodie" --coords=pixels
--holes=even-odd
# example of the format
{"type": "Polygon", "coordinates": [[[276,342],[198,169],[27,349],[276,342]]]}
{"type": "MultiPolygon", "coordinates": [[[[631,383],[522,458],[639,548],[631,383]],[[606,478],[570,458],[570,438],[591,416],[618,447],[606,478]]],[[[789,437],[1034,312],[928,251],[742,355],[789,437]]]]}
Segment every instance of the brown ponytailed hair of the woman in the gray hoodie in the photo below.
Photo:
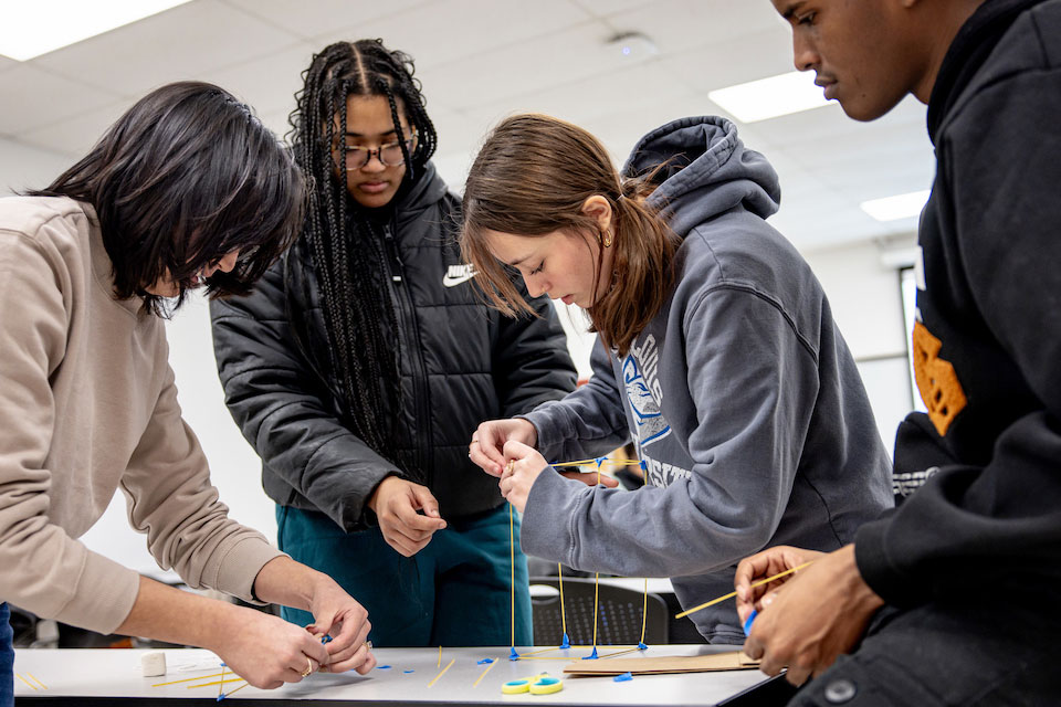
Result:
{"type": "MultiPolygon", "coordinates": [[[[514,316],[533,312],[487,247],[485,232],[539,236],[565,230],[582,238],[603,233],[582,212],[593,196],[608,200],[614,229],[611,288],[587,309],[591,330],[626,356],[633,338],[659,313],[674,281],[679,239],[645,202],[653,175],[620,180],[607,150],[578,126],[546,115],[515,115],[486,137],[464,187],[461,251],[477,273],[491,304],[514,316]]],[[[595,289],[602,276],[597,257],[595,289]]]]}

